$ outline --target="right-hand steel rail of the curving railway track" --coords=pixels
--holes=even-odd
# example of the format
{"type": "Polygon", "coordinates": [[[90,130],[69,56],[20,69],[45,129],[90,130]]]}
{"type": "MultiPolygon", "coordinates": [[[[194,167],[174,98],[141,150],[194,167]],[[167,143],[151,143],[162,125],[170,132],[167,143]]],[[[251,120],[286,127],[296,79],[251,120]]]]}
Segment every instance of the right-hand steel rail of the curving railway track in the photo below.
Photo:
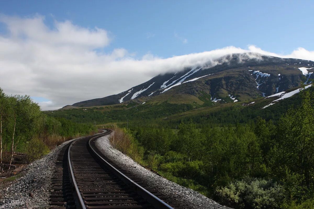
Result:
{"type": "MultiPolygon", "coordinates": [[[[108,131],[109,133],[112,132],[112,130],[108,131]]],[[[108,133],[108,134],[109,134],[108,133]]],[[[114,166],[112,166],[109,162],[107,162],[105,159],[103,159],[96,151],[95,149],[91,146],[91,141],[95,140],[100,136],[95,136],[91,139],[89,139],[89,148],[96,154],[96,156],[100,159],[102,159],[106,165],[108,165],[113,173],[115,173],[125,184],[129,185],[131,188],[133,188],[140,196],[142,196],[146,201],[148,201],[150,204],[152,204],[156,208],[160,209],[173,209],[170,205],[165,203],[164,201],[160,200],[158,197],[144,189],[142,186],[138,185],[136,182],[134,182],[132,179],[124,175],[122,172],[120,172],[118,169],[116,169],[114,166]]]]}

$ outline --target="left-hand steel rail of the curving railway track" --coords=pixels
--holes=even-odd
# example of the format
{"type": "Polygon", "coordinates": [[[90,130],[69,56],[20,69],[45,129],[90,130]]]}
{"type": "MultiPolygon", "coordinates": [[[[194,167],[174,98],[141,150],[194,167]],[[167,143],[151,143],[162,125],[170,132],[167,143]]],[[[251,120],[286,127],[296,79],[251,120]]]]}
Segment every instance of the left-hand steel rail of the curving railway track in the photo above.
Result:
{"type": "MultiPolygon", "coordinates": [[[[100,137],[101,135],[106,135],[106,134],[108,134],[107,132],[108,132],[108,130],[107,130],[106,132],[103,132],[103,133],[98,133],[99,135],[96,136],[96,137],[100,137]],[[106,133],[106,134],[104,134],[104,133],[106,133]]],[[[81,138],[76,139],[76,140],[73,141],[73,142],[71,143],[71,145],[69,146],[69,149],[68,149],[68,168],[69,168],[70,179],[72,180],[72,186],[74,187],[74,190],[75,190],[74,193],[75,193],[76,203],[77,203],[76,206],[77,206],[77,208],[79,208],[79,209],[86,209],[84,200],[83,200],[83,198],[82,198],[82,196],[81,196],[81,193],[80,193],[80,191],[79,191],[79,189],[78,189],[78,185],[77,185],[76,180],[75,180],[75,177],[74,177],[74,173],[73,173],[73,169],[72,169],[72,164],[71,164],[71,158],[70,158],[70,152],[71,152],[71,148],[72,148],[73,144],[75,144],[75,142],[77,142],[78,140],[80,140],[80,139],[82,139],[82,138],[85,138],[85,137],[81,137],[81,138]]],[[[93,138],[95,138],[95,137],[93,137],[93,138]]]]}

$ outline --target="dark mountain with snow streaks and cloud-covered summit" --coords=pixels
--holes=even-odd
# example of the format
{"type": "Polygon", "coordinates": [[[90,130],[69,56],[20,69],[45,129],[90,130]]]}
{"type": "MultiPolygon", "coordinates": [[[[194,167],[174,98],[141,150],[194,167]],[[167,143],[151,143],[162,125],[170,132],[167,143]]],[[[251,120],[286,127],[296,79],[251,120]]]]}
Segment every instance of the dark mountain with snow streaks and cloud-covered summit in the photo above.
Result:
{"type": "Polygon", "coordinates": [[[244,102],[268,97],[314,78],[314,62],[242,53],[208,60],[203,66],[158,75],[116,95],[73,104],[74,107],[146,101],[192,104],[244,102]],[[306,80],[302,81],[302,76],[306,80]]]}

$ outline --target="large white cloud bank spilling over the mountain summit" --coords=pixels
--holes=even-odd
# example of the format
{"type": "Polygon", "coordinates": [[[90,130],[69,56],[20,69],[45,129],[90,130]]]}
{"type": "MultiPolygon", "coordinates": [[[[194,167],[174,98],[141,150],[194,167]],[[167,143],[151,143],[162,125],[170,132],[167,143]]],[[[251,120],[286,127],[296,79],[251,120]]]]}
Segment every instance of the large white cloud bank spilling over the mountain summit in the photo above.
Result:
{"type": "Polygon", "coordinates": [[[258,52],[314,60],[314,51],[298,48],[277,55],[256,46],[234,46],[170,58],[147,53],[135,59],[126,49],[100,53],[112,41],[105,29],[82,28],[70,21],[45,24],[45,17],[0,16],[8,34],[0,35],[0,87],[7,94],[46,98],[43,110],[117,94],[153,76],[184,67],[204,65],[233,53],[258,52]]]}

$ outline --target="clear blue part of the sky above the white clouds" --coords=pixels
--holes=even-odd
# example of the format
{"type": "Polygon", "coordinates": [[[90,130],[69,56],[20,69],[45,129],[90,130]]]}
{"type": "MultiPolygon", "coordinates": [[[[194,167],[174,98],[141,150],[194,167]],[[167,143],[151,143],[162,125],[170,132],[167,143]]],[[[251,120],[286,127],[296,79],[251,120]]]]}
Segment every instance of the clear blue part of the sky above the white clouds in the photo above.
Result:
{"type": "MultiPolygon", "coordinates": [[[[313,1],[2,1],[6,15],[44,15],[102,28],[113,39],[106,51],[125,48],[137,57],[159,57],[225,46],[287,54],[313,50],[313,1]],[[186,40],[186,41],[184,41],[186,40]],[[186,42],[186,43],[185,43],[186,42]]],[[[2,30],[4,28],[2,27],[2,30]]]]}

